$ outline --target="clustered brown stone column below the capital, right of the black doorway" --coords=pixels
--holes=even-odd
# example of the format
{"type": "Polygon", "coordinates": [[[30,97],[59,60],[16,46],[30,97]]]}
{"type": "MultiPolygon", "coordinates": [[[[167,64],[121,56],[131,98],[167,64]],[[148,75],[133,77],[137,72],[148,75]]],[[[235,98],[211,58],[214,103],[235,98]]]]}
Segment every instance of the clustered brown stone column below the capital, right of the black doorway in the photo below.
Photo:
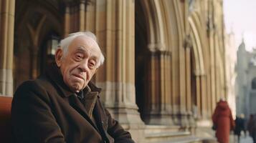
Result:
{"type": "Polygon", "coordinates": [[[171,53],[151,51],[148,66],[148,89],[145,107],[147,124],[173,124],[171,119],[171,53]]]}

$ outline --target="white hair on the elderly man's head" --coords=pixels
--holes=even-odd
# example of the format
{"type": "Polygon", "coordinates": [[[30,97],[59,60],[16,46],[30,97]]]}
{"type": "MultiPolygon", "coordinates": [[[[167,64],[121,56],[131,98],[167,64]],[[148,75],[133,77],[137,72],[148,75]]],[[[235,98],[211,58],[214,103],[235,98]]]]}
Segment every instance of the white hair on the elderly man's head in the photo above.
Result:
{"type": "MultiPolygon", "coordinates": [[[[95,34],[93,34],[93,33],[90,32],[90,31],[78,31],[78,32],[69,34],[65,39],[62,39],[62,40],[60,41],[60,44],[59,44],[59,47],[63,50],[63,55],[64,55],[64,56],[67,54],[67,50],[68,50],[68,47],[70,46],[70,43],[71,43],[77,36],[88,36],[88,37],[90,37],[91,39],[93,39],[96,43],[98,43],[95,34]]],[[[99,47],[99,48],[100,48],[100,47],[99,47]]],[[[99,61],[98,61],[98,65],[97,65],[97,66],[102,65],[102,64],[104,63],[104,61],[105,61],[105,57],[104,57],[104,55],[103,55],[103,52],[102,52],[101,49],[100,49],[100,59],[99,59],[99,61]]]]}

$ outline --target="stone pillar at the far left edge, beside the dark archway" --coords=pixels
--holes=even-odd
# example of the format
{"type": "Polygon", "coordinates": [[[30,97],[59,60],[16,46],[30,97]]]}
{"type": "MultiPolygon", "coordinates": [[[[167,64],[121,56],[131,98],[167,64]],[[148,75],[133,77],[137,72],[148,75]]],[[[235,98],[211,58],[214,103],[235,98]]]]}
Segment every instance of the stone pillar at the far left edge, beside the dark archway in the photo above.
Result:
{"type": "Polygon", "coordinates": [[[13,96],[15,0],[0,1],[0,94],[13,96]]]}

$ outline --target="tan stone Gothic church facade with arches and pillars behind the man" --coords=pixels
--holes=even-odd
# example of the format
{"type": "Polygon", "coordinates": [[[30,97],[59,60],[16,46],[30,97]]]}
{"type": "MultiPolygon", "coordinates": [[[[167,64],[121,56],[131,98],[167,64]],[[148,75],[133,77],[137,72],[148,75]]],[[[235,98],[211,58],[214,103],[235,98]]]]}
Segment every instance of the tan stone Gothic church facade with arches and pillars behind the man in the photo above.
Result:
{"type": "Polygon", "coordinates": [[[105,64],[93,81],[137,142],[211,126],[227,95],[222,0],[1,0],[0,94],[44,73],[75,31],[98,37],[105,64]]]}

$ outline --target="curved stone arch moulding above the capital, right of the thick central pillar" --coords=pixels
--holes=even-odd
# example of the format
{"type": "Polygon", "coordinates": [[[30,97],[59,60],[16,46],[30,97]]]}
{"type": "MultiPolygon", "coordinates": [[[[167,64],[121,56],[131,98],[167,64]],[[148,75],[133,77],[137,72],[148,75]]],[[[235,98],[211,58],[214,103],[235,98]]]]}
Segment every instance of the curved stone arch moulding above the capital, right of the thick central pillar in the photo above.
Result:
{"type": "MultiPolygon", "coordinates": [[[[181,31],[176,16],[176,11],[179,10],[174,4],[173,1],[141,1],[143,12],[146,15],[146,32],[150,51],[171,51],[171,46],[174,46],[176,37],[173,35],[181,31]]],[[[179,37],[182,36],[179,35],[179,37]]]]}

